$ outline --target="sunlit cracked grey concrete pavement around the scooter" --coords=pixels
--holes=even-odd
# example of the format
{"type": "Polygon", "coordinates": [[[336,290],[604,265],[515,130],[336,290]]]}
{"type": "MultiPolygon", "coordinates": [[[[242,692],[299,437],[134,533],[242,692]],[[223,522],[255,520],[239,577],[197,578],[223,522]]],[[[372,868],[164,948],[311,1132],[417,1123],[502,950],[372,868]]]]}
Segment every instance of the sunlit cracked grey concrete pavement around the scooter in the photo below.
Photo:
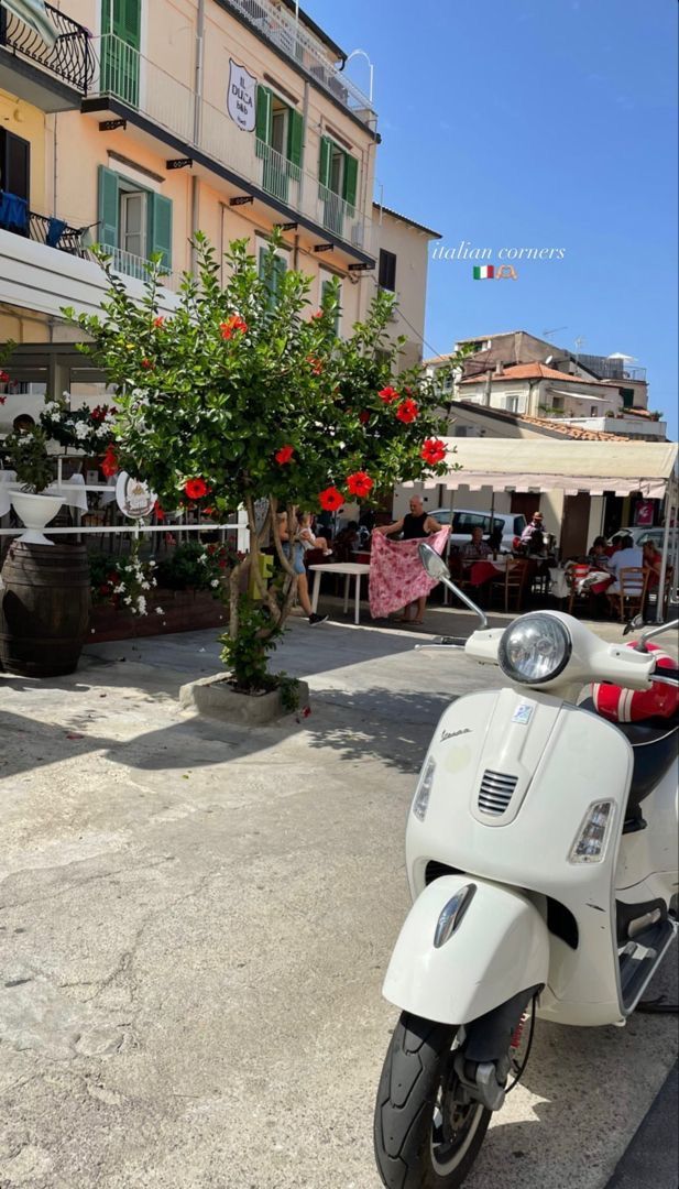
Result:
{"type": "MultiPolygon", "coordinates": [[[[293,622],[313,713],[249,734],[178,710],[212,631],[0,677],[0,1189],[378,1189],[414,776],[495,680],[415,634],[293,622]]],[[[675,1049],[664,1017],[539,1025],[470,1189],[602,1189],[675,1049]]]]}

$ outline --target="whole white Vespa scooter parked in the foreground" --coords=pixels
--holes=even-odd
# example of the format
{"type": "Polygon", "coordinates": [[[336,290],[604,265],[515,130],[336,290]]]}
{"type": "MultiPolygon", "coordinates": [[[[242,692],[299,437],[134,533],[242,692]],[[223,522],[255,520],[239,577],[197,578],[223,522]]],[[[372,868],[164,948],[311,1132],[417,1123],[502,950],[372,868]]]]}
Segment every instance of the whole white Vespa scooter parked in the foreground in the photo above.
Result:
{"type": "Polygon", "coordinates": [[[464,644],[508,684],[444,712],[408,816],[414,905],[383,988],[402,1014],[375,1112],[389,1189],[461,1184],[535,1017],[623,1025],[673,940],[677,719],[616,725],[577,705],[587,681],[677,685],[646,650],[671,628],[629,648],[540,611],[464,644]]]}

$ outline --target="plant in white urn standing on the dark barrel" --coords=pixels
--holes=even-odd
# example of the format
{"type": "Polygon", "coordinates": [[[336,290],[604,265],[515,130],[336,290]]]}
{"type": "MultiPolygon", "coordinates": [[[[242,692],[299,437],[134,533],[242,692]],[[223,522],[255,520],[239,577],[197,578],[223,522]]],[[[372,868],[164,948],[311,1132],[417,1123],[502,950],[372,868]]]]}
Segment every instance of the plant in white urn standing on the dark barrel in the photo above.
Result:
{"type": "Polygon", "coordinates": [[[19,540],[26,545],[52,545],[42,530],[55,518],[63,501],[61,496],[45,495],[54,479],[45,430],[42,426],[15,429],[5,439],[4,451],[21,485],[11,496],[12,507],[27,529],[19,540]]]}

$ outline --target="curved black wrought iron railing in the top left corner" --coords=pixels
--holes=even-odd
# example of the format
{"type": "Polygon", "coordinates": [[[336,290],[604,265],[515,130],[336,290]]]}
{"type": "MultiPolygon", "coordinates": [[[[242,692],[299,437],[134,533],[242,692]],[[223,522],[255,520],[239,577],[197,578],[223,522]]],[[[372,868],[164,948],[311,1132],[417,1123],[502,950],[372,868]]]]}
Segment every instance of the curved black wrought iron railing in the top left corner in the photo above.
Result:
{"type": "Polygon", "coordinates": [[[87,29],[65,13],[45,4],[58,37],[52,46],[5,6],[0,6],[0,48],[31,62],[87,95],[94,75],[94,52],[87,29]]]}

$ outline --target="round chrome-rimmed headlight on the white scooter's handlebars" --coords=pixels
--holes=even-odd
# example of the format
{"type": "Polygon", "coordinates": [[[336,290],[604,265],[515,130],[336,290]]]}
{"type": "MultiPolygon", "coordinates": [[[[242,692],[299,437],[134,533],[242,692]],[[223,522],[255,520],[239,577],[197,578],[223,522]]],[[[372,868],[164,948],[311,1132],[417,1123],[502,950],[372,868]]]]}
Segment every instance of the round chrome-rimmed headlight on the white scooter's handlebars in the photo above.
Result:
{"type": "Polygon", "coordinates": [[[561,619],[553,615],[526,615],[503,633],[497,659],[503,673],[522,685],[552,681],[565,669],[573,644],[561,619]]]}

